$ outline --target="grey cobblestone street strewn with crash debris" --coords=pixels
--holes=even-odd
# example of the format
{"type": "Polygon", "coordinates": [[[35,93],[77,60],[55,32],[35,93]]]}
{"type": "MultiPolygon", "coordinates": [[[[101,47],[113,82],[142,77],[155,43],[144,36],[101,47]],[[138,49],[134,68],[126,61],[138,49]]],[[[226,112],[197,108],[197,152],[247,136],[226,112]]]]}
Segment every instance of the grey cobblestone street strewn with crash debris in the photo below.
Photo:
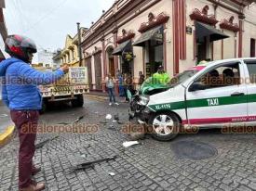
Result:
{"type": "MultiPolygon", "coordinates": [[[[128,105],[109,107],[106,102],[87,100],[85,108],[60,108],[42,116],[41,122],[70,123],[80,121],[98,124],[96,134],[60,134],[36,150],[34,162],[42,172],[34,178],[47,183],[47,190],[256,190],[256,135],[221,134],[218,130],[182,134],[172,142],[157,142],[151,137],[141,145],[124,148],[129,140],[120,133],[121,125],[108,121],[105,115],[119,114],[126,121],[128,105]],[[181,158],[173,146],[184,141],[205,143],[218,153],[209,159],[181,158]],[[86,159],[117,155],[115,161],[102,162],[95,169],[73,172],[71,167],[86,159]],[[109,175],[114,172],[115,175],[109,175]]],[[[56,134],[38,134],[37,143],[56,134]]],[[[0,190],[17,190],[16,154],[18,139],[0,149],[0,190]]]]}

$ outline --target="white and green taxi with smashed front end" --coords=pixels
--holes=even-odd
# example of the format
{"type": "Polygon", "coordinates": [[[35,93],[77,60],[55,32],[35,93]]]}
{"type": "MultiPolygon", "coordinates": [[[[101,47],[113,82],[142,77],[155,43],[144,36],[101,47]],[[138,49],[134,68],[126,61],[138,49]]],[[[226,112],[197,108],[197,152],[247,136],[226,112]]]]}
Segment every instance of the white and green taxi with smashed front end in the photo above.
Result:
{"type": "Polygon", "coordinates": [[[181,129],[256,124],[256,57],[209,62],[185,70],[168,91],[141,96],[137,119],[160,141],[181,129]]]}

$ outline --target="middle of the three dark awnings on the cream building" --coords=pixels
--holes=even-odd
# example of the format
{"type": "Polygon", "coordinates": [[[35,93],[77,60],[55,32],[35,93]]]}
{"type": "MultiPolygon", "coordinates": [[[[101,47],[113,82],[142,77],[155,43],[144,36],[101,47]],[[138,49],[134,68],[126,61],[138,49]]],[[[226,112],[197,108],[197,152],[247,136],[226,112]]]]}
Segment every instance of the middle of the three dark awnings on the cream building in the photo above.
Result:
{"type": "Polygon", "coordinates": [[[150,40],[163,41],[163,26],[156,27],[148,32],[143,32],[141,37],[133,45],[145,46],[145,43],[150,40]]]}

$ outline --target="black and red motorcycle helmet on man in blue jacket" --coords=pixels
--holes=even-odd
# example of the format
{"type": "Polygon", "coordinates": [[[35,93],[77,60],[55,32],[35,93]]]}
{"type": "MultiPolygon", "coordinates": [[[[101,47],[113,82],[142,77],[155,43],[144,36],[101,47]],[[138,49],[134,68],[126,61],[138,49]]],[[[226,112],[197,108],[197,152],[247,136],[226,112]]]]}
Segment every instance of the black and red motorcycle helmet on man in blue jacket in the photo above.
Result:
{"type": "Polygon", "coordinates": [[[6,39],[6,52],[11,57],[17,57],[24,62],[29,62],[29,53],[36,53],[34,41],[21,35],[9,35],[6,39]]]}

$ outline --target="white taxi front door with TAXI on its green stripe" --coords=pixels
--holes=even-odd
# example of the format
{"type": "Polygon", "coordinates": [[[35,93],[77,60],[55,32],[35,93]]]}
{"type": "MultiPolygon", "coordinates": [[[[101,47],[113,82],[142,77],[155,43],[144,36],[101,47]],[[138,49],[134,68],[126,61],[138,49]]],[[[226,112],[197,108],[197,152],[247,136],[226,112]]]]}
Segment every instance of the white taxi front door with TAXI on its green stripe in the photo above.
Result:
{"type": "Polygon", "coordinates": [[[247,121],[247,87],[240,83],[244,63],[219,64],[206,70],[187,88],[188,125],[217,125],[247,121]]]}

